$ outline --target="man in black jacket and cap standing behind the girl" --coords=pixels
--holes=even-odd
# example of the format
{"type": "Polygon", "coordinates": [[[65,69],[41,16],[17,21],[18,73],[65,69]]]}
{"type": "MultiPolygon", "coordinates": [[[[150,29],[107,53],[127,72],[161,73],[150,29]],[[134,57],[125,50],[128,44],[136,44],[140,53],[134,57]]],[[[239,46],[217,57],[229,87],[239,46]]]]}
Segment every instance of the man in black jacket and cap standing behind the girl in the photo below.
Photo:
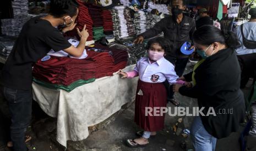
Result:
{"type": "MultiPolygon", "coordinates": [[[[166,59],[175,65],[175,71],[181,77],[189,56],[182,54],[180,49],[184,42],[191,41],[192,34],[195,31],[195,21],[183,14],[183,11],[186,9],[185,0],[172,0],[171,7],[172,16],[162,19],[153,28],[141,33],[134,40],[134,43],[143,43],[144,39],[155,37],[157,34],[164,32],[164,37],[169,39],[172,45],[172,50],[167,52],[166,59]]],[[[173,99],[172,89],[167,90],[167,92],[169,92],[168,101],[178,105],[179,103],[173,99]]]]}

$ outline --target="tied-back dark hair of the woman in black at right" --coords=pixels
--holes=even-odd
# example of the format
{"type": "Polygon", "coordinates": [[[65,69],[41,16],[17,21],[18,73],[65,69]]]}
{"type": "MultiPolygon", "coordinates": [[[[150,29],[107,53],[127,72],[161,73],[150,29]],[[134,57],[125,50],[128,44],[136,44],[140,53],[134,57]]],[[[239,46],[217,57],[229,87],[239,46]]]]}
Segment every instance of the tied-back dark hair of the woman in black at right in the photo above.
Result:
{"type": "Polygon", "coordinates": [[[226,44],[228,48],[236,49],[241,47],[237,35],[232,31],[221,31],[212,25],[201,26],[193,34],[193,42],[201,45],[210,45],[214,42],[226,44]]]}

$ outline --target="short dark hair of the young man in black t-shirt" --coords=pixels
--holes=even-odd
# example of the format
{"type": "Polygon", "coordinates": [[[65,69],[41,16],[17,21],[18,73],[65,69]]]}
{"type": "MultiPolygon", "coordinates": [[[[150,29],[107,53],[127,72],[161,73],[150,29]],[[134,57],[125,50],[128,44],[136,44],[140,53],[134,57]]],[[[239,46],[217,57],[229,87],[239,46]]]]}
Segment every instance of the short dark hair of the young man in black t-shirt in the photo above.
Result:
{"type": "Polygon", "coordinates": [[[78,7],[76,0],[51,0],[49,14],[55,18],[61,18],[64,15],[73,17],[77,14],[78,7]]]}

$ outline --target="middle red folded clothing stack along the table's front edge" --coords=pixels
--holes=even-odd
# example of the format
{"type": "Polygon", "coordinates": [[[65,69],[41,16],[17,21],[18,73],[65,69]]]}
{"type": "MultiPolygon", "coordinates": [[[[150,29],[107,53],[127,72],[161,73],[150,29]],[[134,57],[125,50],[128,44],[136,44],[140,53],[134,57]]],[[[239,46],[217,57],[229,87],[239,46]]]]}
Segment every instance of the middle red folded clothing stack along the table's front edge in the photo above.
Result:
{"type": "Polygon", "coordinates": [[[108,51],[97,52],[95,48],[86,49],[88,57],[86,59],[90,59],[95,61],[96,69],[95,69],[95,77],[102,78],[106,76],[113,75],[113,67],[114,67],[114,59],[108,51]]]}

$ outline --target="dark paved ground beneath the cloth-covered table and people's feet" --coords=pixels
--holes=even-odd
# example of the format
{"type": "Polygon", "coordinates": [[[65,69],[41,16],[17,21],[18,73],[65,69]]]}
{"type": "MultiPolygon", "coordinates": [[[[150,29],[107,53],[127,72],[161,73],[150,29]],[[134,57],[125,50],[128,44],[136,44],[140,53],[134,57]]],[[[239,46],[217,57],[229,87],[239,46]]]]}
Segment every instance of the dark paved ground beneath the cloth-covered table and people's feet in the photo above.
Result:
{"type": "MultiPolygon", "coordinates": [[[[186,72],[188,72],[187,70],[186,72]]],[[[248,88],[244,92],[248,92],[248,88]]],[[[6,114],[6,106],[3,103],[3,97],[0,96],[0,108],[2,113],[0,114],[0,151],[4,150],[5,147],[5,136],[3,125],[7,123],[4,119],[3,114],[6,114]]],[[[181,106],[193,107],[197,106],[197,101],[192,98],[184,97],[176,94],[176,98],[181,102],[181,106]]],[[[171,103],[168,103],[168,107],[172,107],[171,103]]],[[[28,128],[28,133],[32,136],[32,140],[28,143],[30,150],[63,150],[61,146],[55,141],[56,137],[56,119],[50,118],[40,111],[40,108],[33,106],[34,118],[31,126],[28,128]]],[[[70,151],[130,151],[130,150],[145,150],[145,151],[157,151],[157,150],[188,150],[193,149],[190,137],[183,138],[181,135],[181,130],[189,129],[193,121],[193,117],[170,117],[166,116],[165,129],[158,132],[155,138],[150,138],[150,144],[145,148],[131,149],[126,147],[124,140],[128,138],[135,138],[135,132],[140,130],[137,125],[133,123],[134,117],[134,104],[128,109],[124,110],[121,114],[110,118],[107,123],[101,126],[97,131],[93,131],[91,135],[83,141],[80,142],[68,142],[67,150],[70,151]],[[177,132],[172,130],[172,126],[177,123],[178,118],[183,118],[182,123],[178,124],[177,132]],[[181,144],[185,143],[186,147],[181,144]]],[[[242,130],[242,128],[241,128],[242,130]]],[[[230,137],[224,138],[217,141],[216,150],[226,151],[239,150],[238,144],[239,133],[232,133],[230,137]]]]}

